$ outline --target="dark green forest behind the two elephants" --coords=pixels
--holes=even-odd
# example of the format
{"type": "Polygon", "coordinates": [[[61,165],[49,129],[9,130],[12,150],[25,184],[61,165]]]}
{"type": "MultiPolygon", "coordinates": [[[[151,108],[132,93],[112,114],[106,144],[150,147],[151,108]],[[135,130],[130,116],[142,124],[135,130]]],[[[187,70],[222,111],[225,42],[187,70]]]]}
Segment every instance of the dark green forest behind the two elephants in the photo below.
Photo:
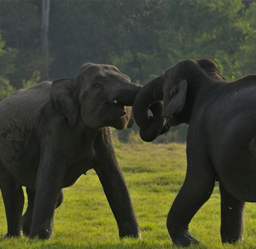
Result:
{"type": "MultiPolygon", "coordinates": [[[[211,58],[233,80],[256,73],[255,41],[255,0],[0,0],[0,101],[73,77],[84,62],[112,64],[144,85],[180,59],[211,58]]],[[[185,140],[184,125],[155,143],[185,140]]]]}

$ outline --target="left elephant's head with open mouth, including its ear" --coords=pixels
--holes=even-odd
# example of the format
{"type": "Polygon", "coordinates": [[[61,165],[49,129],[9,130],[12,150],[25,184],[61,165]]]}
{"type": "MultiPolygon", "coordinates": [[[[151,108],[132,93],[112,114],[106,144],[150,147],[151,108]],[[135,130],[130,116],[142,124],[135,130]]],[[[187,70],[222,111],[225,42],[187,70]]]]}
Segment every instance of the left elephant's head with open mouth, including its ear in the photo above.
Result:
{"type": "Polygon", "coordinates": [[[141,87],[115,66],[87,63],[74,79],[57,79],[50,89],[54,112],[73,126],[80,115],[91,128],[125,129],[141,87]]]}

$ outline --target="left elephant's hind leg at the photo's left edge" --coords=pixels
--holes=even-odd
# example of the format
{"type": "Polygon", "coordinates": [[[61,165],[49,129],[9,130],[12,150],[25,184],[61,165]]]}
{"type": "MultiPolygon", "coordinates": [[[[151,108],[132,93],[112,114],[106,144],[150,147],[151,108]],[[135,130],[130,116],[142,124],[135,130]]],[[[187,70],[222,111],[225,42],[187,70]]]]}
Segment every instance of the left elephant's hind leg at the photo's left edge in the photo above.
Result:
{"type": "Polygon", "coordinates": [[[24,194],[22,187],[0,166],[0,187],[5,204],[8,231],[5,237],[22,236],[22,210],[24,194]]]}

